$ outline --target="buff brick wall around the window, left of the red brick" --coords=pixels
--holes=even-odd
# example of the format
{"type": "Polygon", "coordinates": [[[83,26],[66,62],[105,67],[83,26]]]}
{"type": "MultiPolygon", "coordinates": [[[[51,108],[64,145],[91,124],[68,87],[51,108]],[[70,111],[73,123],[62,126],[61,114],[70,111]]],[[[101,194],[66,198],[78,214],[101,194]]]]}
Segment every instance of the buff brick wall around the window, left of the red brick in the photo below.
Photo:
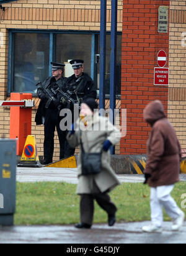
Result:
{"type": "MultiPolygon", "coordinates": [[[[0,100],[7,98],[7,63],[9,34],[7,29],[100,30],[100,1],[19,0],[2,4],[0,11],[0,100]]],[[[118,0],[118,31],[122,31],[123,2],[118,0]]],[[[111,1],[107,1],[107,30],[110,30],[111,1]]],[[[43,126],[35,126],[36,107],[32,111],[32,134],[37,139],[39,155],[43,155],[43,126]]],[[[9,137],[9,108],[0,107],[0,137],[9,137]]],[[[55,135],[54,160],[59,157],[55,135]]],[[[117,153],[119,153],[119,146],[117,153]]]]}

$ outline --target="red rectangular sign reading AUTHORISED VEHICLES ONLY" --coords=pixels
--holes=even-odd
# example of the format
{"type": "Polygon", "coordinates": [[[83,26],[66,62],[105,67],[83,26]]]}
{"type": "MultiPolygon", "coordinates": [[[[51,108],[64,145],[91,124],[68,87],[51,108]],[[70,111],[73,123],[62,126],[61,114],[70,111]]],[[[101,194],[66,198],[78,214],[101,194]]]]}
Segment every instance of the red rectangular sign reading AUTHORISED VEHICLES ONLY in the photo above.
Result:
{"type": "Polygon", "coordinates": [[[154,85],[169,85],[169,68],[154,68],[154,85]]]}

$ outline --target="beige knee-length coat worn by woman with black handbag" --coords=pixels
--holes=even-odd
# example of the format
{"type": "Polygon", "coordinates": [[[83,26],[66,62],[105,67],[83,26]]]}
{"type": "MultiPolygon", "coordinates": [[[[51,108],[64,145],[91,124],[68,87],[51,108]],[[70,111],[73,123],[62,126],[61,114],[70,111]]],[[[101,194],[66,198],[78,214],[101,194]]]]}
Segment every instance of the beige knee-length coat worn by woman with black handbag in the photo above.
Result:
{"type": "MultiPolygon", "coordinates": [[[[67,136],[68,142],[71,147],[77,147],[80,145],[80,134],[82,137],[82,144],[85,152],[99,153],[102,151],[105,140],[110,140],[112,145],[120,142],[120,131],[114,127],[108,118],[100,117],[98,114],[94,114],[93,117],[87,117],[87,126],[84,126],[84,122],[80,121],[79,130],[74,135],[70,133],[67,136]]],[[[99,190],[104,193],[105,191],[111,191],[115,186],[120,185],[117,176],[115,175],[112,167],[110,166],[110,150],[102,153],[102,170],[97,175],[81,175],[81,153],[78,158],[78,188],[77,194],[92,194],[94,191],[94,181],[99,190]]]]}

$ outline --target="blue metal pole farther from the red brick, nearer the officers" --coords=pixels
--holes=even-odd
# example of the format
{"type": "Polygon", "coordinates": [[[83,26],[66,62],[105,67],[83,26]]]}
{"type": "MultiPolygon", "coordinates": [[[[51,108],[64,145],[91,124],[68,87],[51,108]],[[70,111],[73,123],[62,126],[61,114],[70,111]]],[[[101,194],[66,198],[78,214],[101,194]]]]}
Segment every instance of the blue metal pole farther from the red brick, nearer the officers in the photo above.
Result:
{"type": "Polygon", "coordinates": [[[100,1],[100,83],[99,106],[105,109],[105,62],[106,62],[106,27],[107,25],[107,0],[100,1]]]}

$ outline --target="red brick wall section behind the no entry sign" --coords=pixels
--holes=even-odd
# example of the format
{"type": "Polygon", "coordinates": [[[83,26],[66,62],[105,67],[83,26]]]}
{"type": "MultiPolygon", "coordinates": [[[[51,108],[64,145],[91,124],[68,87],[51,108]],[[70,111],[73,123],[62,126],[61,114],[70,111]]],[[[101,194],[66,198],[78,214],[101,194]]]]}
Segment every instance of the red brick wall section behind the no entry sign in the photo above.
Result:
{"type": "Polygon", "coordinates": [[[159,99],[167,111],[168,86],[154,86],[157,53],[163,49],[169,57],[169,34],[157,32],[159,6],[169,6],[169,1],[123,0],[122,108],[127,109],[127,131],[122,154],[146,153],[146,104],[159,99]]]}

